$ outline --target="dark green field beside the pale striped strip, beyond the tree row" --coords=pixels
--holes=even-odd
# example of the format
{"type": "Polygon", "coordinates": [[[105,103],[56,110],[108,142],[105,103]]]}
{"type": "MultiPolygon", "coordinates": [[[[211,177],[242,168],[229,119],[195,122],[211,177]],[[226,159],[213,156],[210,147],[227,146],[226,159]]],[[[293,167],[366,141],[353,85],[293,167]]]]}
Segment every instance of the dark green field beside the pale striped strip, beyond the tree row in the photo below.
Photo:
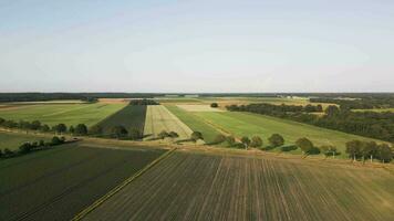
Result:
{"type": "Polygon", "coordinates": [[[114,126],[124,126],[127,130],[133,127],[143,131],[145,118],[145,105],[127,105],[120,112],[98,123],[98,125],[102,126],[106,133],[114,126]]]}

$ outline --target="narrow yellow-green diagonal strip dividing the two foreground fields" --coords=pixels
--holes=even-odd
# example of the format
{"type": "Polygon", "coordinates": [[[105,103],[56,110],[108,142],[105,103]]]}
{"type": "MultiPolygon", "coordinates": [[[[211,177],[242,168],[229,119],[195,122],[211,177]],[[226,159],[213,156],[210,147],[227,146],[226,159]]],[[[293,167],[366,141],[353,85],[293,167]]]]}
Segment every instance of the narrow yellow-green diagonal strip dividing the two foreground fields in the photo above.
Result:
{"type": "Polygon", "coordinates": [[[118,191],[121,191],[123,188],[125,188],[127,185],[129,185],[131,182],[133,182],[135,179],[137,179],[138,177],[141,177],[143,173],[145,173],[148,169],[151,169],[152,167],[154,167],[155,165],[157,165],[159,161],[162,161],[163,159],[167,158],[169,155],[172,155],[177,148],[173,148],[170,150],[168,150],[167,152],[163,154],[162,156],[159,156],[158,158],[156,158],[155,160],[153,160],[151,164],[148,164],[146,167],[144,167],[143,169],[141,169],[137,173],[133,175],[132,177],[127,178],[126,180],[124,180],[121,185],[118,185],[117,187],[115,187],[114,189],[112,189],[111,191],[108,191],[106,194],[104,194],[103,197],[101,197],[98,200],[96,200],[95,202],[93,202],[93,204],[89,206],[86,209],[82,210],[80,213],[77,213],[72,221],[80,221],[83,218],[85,218],[89,213],[91,213],[93,210],[97,209],[101,204],[103,204],[106,200],[108,200],[111,197],[113,197],[114,194],[116,194],[118,191]]]}

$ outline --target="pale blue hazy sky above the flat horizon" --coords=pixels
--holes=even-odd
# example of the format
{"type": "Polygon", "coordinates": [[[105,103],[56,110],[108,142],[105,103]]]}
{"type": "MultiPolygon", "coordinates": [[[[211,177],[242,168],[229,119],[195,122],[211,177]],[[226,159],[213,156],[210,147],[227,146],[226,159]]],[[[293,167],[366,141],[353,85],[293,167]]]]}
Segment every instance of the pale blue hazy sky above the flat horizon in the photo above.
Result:
{"type": "Polygon", "coordinates": [[[394,92],[393,0],[0,0],[0,92],[394,92]]]}

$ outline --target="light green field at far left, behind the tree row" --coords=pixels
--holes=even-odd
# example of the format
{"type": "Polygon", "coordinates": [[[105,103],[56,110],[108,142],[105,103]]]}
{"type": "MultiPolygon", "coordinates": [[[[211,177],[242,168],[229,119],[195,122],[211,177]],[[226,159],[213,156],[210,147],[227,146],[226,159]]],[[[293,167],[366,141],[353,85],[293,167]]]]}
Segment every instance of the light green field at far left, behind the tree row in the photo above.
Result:
{"type": "Polygon", "coordinates": [[[13,120],[40,120],[50,126],[55,124],[92,126],[123,108],[125,104],[38,104],[21,108],[0,108],[0,117],[13,120]]]}

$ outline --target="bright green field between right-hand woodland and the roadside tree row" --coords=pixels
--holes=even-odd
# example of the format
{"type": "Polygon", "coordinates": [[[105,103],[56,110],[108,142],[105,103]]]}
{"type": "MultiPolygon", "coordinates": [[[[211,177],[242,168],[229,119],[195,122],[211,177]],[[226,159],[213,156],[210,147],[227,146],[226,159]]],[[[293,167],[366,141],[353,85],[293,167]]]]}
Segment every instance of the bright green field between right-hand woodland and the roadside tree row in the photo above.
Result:
{"type": "MultiPolygon", "coordinates": [[[[284,137],[287,144],[294,143],[298,138],[308,137],[314,145],[334,145],[342,152],[340,157],[345,157],[345,143],[352,139],[373,140],[370,138],[350,135],[338,130],[325,129],[311,125],[305,125],[292,120],[237,112],[225,113],[196,113],[205,120],[210,122],[217,127],[241,136],[261,136],[266,144],[267,138],[272,134],[280,134],[284,137]]],[[[379,140],[376,140],[379,141],[379,140]]]]}

